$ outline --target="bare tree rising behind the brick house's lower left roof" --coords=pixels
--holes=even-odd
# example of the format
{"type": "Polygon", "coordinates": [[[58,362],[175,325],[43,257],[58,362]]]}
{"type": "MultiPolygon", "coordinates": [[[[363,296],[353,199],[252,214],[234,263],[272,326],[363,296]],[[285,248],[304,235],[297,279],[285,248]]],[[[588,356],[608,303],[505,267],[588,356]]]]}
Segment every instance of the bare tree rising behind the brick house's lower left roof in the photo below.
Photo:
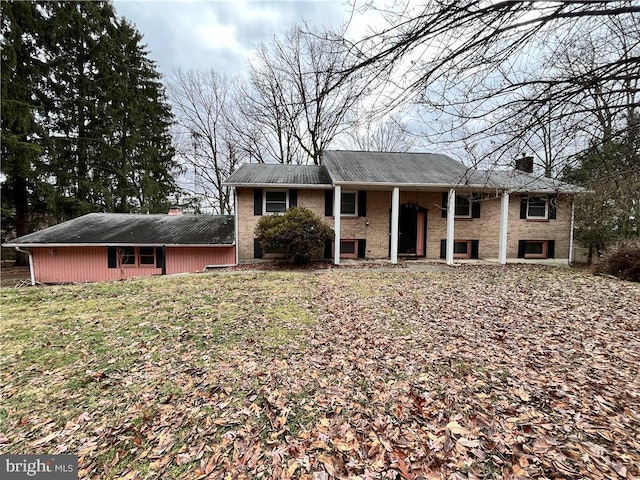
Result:
{"type": "Polygon", "coordinates": [[[352,63],[343,42],[300,28],[256,50],[253,91],[245,92],[242,108],[267,139],[275,138],[275,160],[320,164],[322,151],[354,125],[362,87],[357,75],[341,73],[352,63]]]}

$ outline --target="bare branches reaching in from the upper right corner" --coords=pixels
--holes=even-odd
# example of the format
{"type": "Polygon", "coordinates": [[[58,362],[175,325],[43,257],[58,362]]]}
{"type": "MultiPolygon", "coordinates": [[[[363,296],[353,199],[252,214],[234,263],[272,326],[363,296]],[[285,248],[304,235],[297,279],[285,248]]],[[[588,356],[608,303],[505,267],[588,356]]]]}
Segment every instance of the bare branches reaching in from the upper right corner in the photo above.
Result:
{"type": "MultiPolygon", "coordinates": [[[[374,7],[369,7],[374,8],[374,7]]],[[[412,101],[427,108],[429,118],[455,132],[474,153],[474,163],[504,162],[513,150],[535,143],[551,173],[549,121],[575,132],[585,116],[615,118],[640,104],[637,78],[640,65],[637,2],[445,0],[407,3],[385,10],[389,26],[351,45],[360,57],[343,73],[345,78],[367,71],[387,89],[385,108],[412,101]],[[603,22],[624,22],[631,31],[608,31],[605,52],[581,69],[563,69],[556,62],[567,48],[603,22]],[[622,55],[614,44],[627,42],[622,55]],[[585,101],[585,91],[598,85],[628,101],[601,105],[585,101]],[[517,119],[517,121],[515,121],[517,119]],[[534,141],[537,135],[538,140],[534,141]],[[547,138],[545,138],[545,136],[547,138]],[[528,138],[527,138],[528,137],[528,138]],[[485,148],[478,152],[477,146],[485,148]],[[546,144],[546,145],[545,145],[546,144]]],[[[606,30],[606,29],[604,29],[606,30]]],[[[560,127],[558,127],[560,128],[560,127]]],[[[624,128],[624,125],[622,125],[624,128]]],[[[557,169],[555,169],[557,172],[557,169]]]]}

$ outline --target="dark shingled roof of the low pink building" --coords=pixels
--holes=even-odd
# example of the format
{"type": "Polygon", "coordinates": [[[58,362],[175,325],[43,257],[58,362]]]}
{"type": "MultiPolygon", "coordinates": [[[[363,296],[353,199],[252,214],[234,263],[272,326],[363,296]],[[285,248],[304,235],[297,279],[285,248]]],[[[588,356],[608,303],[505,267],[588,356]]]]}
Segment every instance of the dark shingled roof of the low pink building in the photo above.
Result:
{"type": "Polygon", "coordinates": [[[7,243],[40,245],[233,245],[229,215],[90,213],[7,243]]]}

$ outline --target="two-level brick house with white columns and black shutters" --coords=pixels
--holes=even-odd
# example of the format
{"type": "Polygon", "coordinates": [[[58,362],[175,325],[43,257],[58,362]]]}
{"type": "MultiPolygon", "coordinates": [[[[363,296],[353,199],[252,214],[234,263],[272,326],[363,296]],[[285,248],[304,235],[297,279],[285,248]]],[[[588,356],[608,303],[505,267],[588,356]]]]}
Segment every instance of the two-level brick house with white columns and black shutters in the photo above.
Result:
{"type": "Polygon", "coordinates": [[[304,206],[335,230],[325,257],[569,260],[574,195],[584,191],[514,170],[478,170],[432,153],[325,151],[322,166],[244,164],[235,191],[238,262],[277,257],[254,235],[263,215],[304,206]]]}

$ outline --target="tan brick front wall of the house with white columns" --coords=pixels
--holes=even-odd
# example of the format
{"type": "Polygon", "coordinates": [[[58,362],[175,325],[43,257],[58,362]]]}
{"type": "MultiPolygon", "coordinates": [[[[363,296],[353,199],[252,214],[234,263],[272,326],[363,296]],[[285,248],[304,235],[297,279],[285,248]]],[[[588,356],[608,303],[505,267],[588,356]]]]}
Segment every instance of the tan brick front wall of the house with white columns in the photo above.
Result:
{"type": "MultiPolygon", "coordinates": [[[[343,191],[348,191],[343,189],[343,191]]],[[[333,217],[325,216],[325,190],[297,189],[297,203],[307,207],[324,218],[333,227],[333,217]]],[[[333,191],[332,191],[333,192],[333,191]]],[[[459,195],[471,192],[457,191],[459,195]]],[[[456,240],[478,240],[478,256],[485,259],[497,259],[500,236],[500,198],[495,194],[481,194],[480,218],[455,220],[456,240]]],[[[238,238],[237,248],[241,263],[254,261],[254,230],[260,219],[254,215],[254,197],[252,188],[237,188],[238,238]]],[[[509,227],[507,240],[507,258],[518,256],[519,240],[554,240],[556,259],[569,256],[569,238],[571,229],[571,196],[559,196],[556,219],[522,220],[520,219],[520,195],[511,194],[509,201],[509,227]]],[[[447,219],[442,216],[442,192],[401,191],[400,205],[417,203],[427,209],[426,257],[440,258],[440,242],[446,238],[447,219]]],[[[391,215],[391,191],[367,192],[367,216],[341,219],[341,238],[365,239],[366,258],[389,258],[389,226],[391,215]]]]}

